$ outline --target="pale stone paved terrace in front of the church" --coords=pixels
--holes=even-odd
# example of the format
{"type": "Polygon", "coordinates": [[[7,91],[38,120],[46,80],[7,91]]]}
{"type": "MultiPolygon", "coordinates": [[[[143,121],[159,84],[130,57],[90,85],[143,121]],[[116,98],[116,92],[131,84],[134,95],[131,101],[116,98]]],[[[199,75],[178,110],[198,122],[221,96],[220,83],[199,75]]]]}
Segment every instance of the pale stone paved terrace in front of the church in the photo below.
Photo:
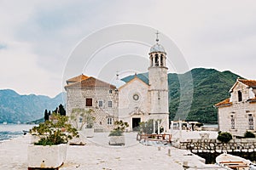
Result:
{"type": "MultiPolygon", "coordinates": [[[[178,150],[170,146],[145,146],[136,141],[137,133],[125,133],[126,145],[108,146],[108,133],[96,133],[86,139],[84,146],[68,146],[67,161],[61,170],[102,170],[102,169],[184,169],[187,161],[189,169],[222,169],[216,165],[206,165],[203,159],[188,150],[178,150]],[[171,149],[171,156],[168,150],[171,149]]],[[[0,169],[27,169],[27,145],[29,135],[0,143],[0,169]]]]}

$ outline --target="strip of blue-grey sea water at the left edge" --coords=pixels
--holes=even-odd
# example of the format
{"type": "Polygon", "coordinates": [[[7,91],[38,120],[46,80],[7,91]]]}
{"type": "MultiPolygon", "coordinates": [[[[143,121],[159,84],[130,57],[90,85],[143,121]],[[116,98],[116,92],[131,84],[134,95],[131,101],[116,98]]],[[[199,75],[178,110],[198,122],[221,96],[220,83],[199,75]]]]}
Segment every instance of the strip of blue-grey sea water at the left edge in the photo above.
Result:
{"type": "Polygon", "coordinates": [[[29,131],[35,125],[27,124],[0,124],[0,141],[12,139],[24,134],[23,131],[29,131]]]}

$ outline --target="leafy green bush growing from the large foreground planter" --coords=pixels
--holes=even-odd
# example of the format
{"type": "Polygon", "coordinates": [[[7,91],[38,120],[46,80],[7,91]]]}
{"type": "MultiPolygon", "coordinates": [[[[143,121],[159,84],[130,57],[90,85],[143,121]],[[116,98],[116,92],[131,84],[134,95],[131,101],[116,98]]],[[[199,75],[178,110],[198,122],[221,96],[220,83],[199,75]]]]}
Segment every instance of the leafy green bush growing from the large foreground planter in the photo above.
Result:
{"type": "Polygon", "coordinates": [[[79,137],[76,128],[67,123],[68,117],[53,114],[49,121],[40,123],[38,127],[32,127],[30,133],[38,135],[40,140],[36,145],[67,144],[69,139],[79,137]]]}

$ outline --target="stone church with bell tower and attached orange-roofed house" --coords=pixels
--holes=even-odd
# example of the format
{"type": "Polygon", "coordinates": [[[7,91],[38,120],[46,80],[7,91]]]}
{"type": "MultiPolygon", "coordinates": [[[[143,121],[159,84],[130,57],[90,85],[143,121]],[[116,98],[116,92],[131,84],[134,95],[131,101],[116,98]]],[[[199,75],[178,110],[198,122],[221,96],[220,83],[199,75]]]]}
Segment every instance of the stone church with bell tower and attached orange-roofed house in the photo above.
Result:
{"type": "Polygon", "coordinates": [[[154,125],[169,129],[168,77],[166,51],[159,39],[149,50],[148,81],[135,75],[117,87],[96,77],[79,75],[68,79],[67,116],[74,108],[92,109],[96,117],[95,132],[109,132],[113,122],[129,123],[136,130],[140,122],[154,120],[154,125]]]}

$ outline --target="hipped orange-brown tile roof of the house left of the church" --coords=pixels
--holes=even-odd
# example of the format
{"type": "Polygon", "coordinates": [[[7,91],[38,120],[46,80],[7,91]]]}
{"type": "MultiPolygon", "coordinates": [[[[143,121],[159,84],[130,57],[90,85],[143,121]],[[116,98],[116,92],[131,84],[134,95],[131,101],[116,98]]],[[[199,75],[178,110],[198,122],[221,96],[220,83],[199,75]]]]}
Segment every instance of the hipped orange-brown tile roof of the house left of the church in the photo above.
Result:
{"type": "Polygon", "coordinates": [[[68,84],[65,88],[116,88],[108,82],[103,82],[95,77],[88,77],[80,82],[68,84]]]}

